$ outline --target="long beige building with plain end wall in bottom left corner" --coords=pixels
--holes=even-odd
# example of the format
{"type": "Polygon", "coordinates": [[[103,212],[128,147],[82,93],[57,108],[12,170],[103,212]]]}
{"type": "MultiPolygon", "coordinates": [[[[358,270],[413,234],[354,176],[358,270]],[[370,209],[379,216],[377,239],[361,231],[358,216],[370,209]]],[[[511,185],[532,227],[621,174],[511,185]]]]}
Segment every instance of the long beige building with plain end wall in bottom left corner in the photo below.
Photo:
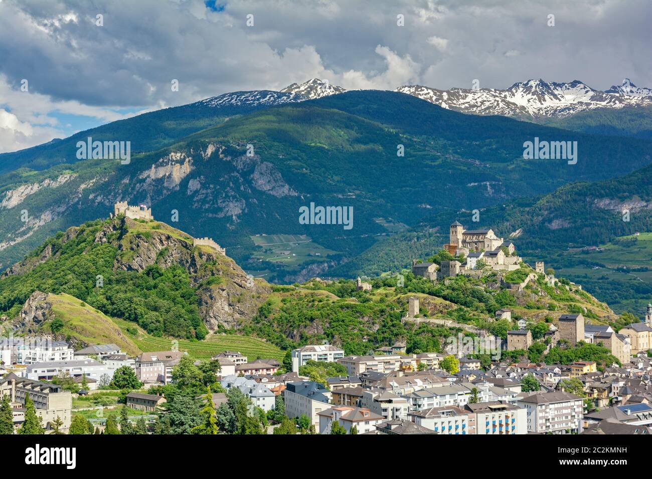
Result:
{"type": "Polygon", "coordinates": [[[72,416],[72,394],[61,386],[41,383],[9,373],[0,379],[0,398],[8,395],[14,409],[14,425],[20,426],[25,418],[25,398],[34,402],[46,431],[52,431],[52,422],[58,417],[63,422],[60,431],[68,432],[72,416]]]}

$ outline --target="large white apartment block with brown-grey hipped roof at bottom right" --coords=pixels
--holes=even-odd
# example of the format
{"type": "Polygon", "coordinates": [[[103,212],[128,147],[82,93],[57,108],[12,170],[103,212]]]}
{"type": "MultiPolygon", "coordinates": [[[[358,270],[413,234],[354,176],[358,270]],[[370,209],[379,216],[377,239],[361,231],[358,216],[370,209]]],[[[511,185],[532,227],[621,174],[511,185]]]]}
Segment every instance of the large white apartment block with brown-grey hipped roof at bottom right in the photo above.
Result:
{"type": "Polygon", "coordinates": [[[582,432],[584,399],[568,392],[531,394],[519,399],[527,411],[527,430],[535,433],[582,432]]]}

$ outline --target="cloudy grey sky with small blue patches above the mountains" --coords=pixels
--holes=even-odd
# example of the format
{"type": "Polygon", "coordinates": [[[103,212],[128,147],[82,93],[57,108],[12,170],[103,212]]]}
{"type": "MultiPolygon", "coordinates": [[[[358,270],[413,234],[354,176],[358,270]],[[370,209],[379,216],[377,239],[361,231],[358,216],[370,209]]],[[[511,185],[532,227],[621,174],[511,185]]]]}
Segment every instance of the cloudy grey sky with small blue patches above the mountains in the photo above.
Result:
{"type": "Polygon", "coordinates": [[[651,20],[650,0],[0,0],[0,152],[310,78],[652,87],[651,20]]]}

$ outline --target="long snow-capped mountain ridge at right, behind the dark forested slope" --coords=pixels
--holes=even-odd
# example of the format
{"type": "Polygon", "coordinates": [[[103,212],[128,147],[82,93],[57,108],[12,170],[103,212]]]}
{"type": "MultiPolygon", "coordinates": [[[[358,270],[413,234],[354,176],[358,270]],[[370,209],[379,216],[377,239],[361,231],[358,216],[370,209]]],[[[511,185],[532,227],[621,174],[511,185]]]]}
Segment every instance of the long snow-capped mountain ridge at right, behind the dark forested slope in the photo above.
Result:
{"type": "Polygon", "coordinates": [[[417,96],[443,108],[510,117],[567,117],[594,108],[623,108],[652,105],[652,92],[638,88],[628,79],[607,91],[592,89],[582,81],[556,83],[527,80],[506,90],[481,88],[437,90],[421,85],[404,85],[396,91],[417,96]]]}

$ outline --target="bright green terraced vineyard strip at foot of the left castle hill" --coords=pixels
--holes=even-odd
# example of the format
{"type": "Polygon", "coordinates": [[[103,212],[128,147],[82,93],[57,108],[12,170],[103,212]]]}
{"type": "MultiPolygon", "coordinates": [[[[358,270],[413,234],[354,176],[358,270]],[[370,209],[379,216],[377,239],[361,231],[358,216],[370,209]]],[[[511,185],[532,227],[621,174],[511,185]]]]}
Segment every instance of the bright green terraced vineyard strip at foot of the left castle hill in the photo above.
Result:
{"type": "Polygon", "coordinates": [[[188,351],[188,355],[205,359],[215,356],[222,351],[239,351],[248,360],[252,361],[258,356],[261,358],[274,358],[281,360],[284,351],[281,351],[273,344],[261,341],[249,336],[239,336],[238,334],[211,334],[203,341],[175,340],[171,338],[156,338],[144,332],[135,323],[122,319],[113,319],[117,325],[125,332],[143,352],[147,351],[170,351],[179,349],[179,351],[188,351]],[[127,332],[127,328],[138,332],[136,335],[127,332]]]}

